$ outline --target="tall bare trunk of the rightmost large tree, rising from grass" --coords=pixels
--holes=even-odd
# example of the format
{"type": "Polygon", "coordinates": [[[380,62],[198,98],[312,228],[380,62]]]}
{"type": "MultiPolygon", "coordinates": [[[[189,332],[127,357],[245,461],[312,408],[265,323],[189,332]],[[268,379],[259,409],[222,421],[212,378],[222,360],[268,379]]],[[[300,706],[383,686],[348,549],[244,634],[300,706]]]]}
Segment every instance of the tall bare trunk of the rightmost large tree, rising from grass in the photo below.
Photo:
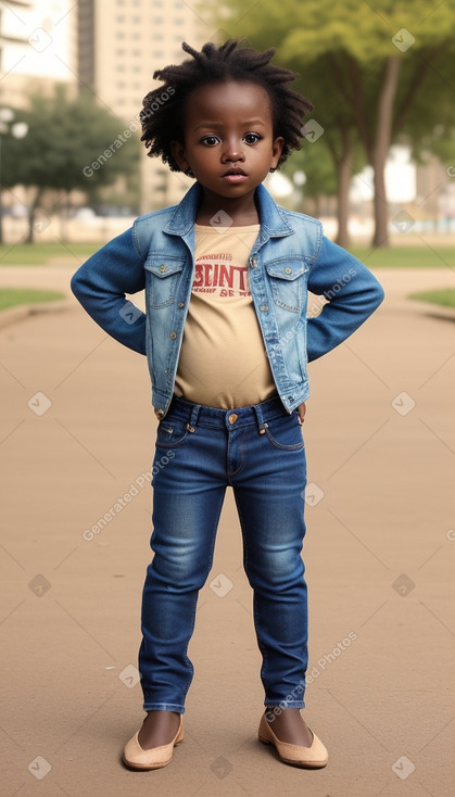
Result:
{"type": "Polygon", "coordinates": [[[375,170],[375,235],[374,246],[389,246],[389,205],[386,191],[386,160],[392,135],[393,103],[395,100],[401,59],[392,55],[386,64],[384,78],[378,102],[378,121],[371,165],[375,170]]]}

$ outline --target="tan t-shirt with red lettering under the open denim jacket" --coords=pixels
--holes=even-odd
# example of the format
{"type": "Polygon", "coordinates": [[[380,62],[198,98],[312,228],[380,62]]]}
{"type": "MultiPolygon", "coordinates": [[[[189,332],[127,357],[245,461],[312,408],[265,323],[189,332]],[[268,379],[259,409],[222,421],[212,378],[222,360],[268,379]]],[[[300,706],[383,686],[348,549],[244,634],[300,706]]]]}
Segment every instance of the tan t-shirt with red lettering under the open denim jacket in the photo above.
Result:
{"type": "Polygon", "coordinates": [[[248,279],[258,230],[220,233],[195,225],[195,275],[175,383],[188,401],[231,409],[277,392],[248,279]]]}

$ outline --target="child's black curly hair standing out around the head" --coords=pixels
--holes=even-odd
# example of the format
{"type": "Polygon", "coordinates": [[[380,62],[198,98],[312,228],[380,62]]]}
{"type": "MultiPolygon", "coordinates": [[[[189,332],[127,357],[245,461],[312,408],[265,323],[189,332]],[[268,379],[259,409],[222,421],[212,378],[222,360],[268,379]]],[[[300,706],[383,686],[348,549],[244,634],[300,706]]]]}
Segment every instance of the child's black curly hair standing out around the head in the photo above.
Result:
{"type": "Polygon", "coordinates": [[[149,91],[142,101],[143,109],[139,114],[141,141],[146,142],[149,150],[147,154],[151,157],[161,156],[172,172],[181,170],[172,153],[170,141],[185,143],[186,98],[195,88],[224,80],[248,80],[267,91],[273,109],[274,138],[282,136],[285,139],[278,166],[285,163],[293,150],[301,149],[303,121],[313,111],[313,103],[289,88],[296,75],[269,63],[275,54],[274,48],[258,52],[239,47],[239,43],[238,39],[229,39],[217,48],[210,41],[198,52],[184,41],[181,49],[192,59],[153,73],[153,77],[163,80],[165,87],[149,91]]]}

